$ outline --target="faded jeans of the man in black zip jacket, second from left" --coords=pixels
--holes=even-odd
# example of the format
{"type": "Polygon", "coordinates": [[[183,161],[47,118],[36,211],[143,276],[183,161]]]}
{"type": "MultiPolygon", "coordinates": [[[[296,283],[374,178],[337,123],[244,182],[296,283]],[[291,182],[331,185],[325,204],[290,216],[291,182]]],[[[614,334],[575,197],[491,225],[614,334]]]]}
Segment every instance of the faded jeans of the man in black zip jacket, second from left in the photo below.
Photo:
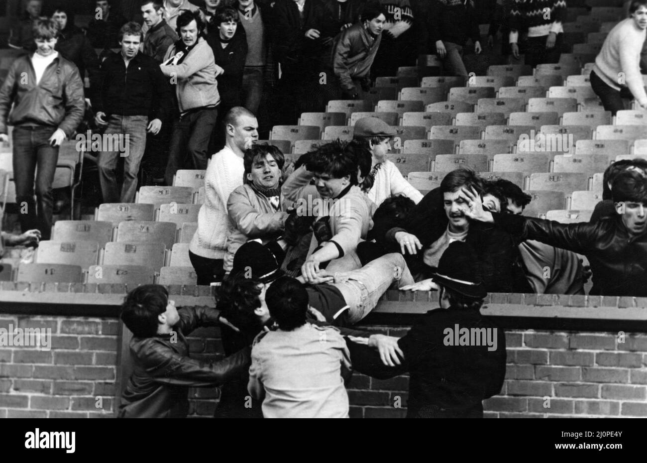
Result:
{"type": "MultiPolygon", "coordinates": [[[[146,150],[146,116],[116,116],[108,120],[108,127],[104,135],[127,135],[127,155],[120,152],[117,144],[113,144],[112,151],[102,151],[96,165],[99,168],[99,182],[104,203],[133,203],[137,192],[137,172],[139,164],[146,150]],[[120,181],[116,178],[116,168],[120,157],[124,158],[124,181],[120,188],[120,181]]],[[[105,141],[105,138],[104,138],[105,141]]]]}

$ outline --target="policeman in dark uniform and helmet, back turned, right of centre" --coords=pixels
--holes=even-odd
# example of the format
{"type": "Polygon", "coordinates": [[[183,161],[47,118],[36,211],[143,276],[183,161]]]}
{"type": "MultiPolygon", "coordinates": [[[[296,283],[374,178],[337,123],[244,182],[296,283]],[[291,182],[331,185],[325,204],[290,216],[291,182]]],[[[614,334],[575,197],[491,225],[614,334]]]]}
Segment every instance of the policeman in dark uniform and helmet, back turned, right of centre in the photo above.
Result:
{"type": "Polygon", "coordinates": [[[487,292],[475,258],[464,242],[446,249],[433,275],[440,308],[398,341],[400,365],[387,367],[375,350],[347,341],[358,372],[378,379],[410,372],[407,418],[483,418],[482,401],[503,386],[505,333],[479,311],[487,292]]]}

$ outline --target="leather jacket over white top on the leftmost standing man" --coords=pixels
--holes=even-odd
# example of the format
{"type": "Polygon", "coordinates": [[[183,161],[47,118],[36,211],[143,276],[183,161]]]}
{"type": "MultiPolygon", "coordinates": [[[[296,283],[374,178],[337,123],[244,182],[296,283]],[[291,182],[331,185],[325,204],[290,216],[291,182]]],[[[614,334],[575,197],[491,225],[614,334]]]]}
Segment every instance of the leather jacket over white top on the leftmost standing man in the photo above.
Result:
{"type": "Polygon", "coordinates": [[[31,58],[16,58],[0,87],[0,133],[7,133],[7,124],[52,126],[71,137],[85,112],[78,69],[59,54],[36,85],[31,58]]]}

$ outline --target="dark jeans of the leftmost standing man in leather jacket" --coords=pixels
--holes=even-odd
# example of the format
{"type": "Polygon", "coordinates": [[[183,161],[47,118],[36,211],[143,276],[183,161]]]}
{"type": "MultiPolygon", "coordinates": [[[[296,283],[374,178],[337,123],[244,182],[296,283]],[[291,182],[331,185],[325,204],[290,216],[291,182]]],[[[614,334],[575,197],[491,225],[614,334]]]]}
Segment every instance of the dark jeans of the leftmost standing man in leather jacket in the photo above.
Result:
{"type": "Polygon", "coordinates": [[[43,240],[49,240],[52,231],[54,193],[52,183],[58,163],[58,147],[48,140],[56,127],[33,126],[14,128],[14,183],[16,202],[23,232],[38,228],[43,240]],[[37,168],[38,166],[38,168],[37,168]],[[36,203],[34,203],[34,175],[36,175],[36,203]],[[26,206],[23,209],[23,206],[26,206]]]}

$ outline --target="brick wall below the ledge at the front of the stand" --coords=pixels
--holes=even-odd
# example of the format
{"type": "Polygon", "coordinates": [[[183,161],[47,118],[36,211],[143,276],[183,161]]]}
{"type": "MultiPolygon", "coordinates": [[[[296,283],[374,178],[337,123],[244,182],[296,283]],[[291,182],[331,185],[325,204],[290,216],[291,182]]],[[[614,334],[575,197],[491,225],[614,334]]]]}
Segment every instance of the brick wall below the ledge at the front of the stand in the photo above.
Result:
{"type": "MultiPolygon", "coordinates": [[[[51,328],[52,349],[0,350],[0,418],[114,416],[116,319],[0,314],[0,328],[9,324],[51,328]]],[[[647,416],[647,334],[627,333],[619,343],[617,332],[507,330],[506,340],[505,385],[485,402],[486,417],[647,416]]],[[[193,357],[223,354],[217,328],[196,330],[189,342],[193,357]]],[[[351,417],[402,417],[407,391],[407,376],[380,381],[355,374],[351,417]]],[[[217,389],[191,389],[190,415],[212,416],[217,396],[217,389]]]]}

